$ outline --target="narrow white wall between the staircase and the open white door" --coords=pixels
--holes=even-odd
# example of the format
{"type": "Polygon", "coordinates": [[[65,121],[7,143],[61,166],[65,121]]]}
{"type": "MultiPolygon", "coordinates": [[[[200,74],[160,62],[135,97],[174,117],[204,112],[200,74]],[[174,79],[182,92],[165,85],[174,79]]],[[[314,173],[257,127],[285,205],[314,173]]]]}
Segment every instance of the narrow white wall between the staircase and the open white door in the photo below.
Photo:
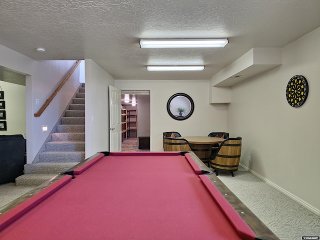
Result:
{"type": "Polygon", "coordinates": [[[109,85],[114,79],[85,59],[85,157],[109,150],[109,85]]]}

